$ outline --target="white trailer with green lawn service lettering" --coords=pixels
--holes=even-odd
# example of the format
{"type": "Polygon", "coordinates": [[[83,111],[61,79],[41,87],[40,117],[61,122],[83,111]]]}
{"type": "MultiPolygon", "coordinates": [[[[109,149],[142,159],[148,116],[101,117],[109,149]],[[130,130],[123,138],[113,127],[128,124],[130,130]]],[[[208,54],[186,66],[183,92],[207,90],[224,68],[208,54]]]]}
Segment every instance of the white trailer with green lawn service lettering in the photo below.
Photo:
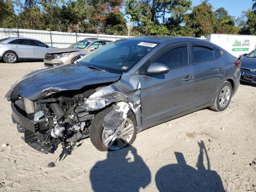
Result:
{"type": "Polygon", "coordinates": [[[220,46],[239,59],[243,54],[256,48],[255,35],[209,34],[206,40],[220,46]]]}

